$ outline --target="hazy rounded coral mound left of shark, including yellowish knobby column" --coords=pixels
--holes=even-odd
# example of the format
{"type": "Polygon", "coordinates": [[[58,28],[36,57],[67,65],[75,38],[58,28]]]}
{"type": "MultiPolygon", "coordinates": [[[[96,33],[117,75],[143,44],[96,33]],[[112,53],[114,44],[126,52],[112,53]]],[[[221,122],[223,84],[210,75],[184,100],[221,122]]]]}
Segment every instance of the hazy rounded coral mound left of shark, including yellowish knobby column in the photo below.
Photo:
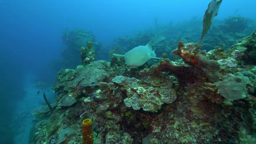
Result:
{"type": "Polygon", "coordinates": [[[68,47],[61,52],[61,59],[52,62],[52,67],[57,70],[76,68],[81,64],[80,55],[82,55],[83,61],[87,58],[86,64],[97,59],[95,56],[100,56],[98,52],[100,52],[102,44],[96,42],[95,36],[88,30],[79,28],[71,31],[65,30],[62,34],[62,41],[68,47]]]}

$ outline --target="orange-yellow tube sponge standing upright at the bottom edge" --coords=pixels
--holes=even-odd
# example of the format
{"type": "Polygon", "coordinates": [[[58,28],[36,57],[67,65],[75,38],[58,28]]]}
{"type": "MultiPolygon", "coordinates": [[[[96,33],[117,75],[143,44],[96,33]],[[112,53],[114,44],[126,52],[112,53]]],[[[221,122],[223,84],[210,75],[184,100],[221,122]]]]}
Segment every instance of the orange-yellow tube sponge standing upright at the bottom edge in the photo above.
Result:
{"type": "Polygon", "coordinates": [[[82,122],[83,144],[93,144],[92,120],[87,118],[82,122]]]}

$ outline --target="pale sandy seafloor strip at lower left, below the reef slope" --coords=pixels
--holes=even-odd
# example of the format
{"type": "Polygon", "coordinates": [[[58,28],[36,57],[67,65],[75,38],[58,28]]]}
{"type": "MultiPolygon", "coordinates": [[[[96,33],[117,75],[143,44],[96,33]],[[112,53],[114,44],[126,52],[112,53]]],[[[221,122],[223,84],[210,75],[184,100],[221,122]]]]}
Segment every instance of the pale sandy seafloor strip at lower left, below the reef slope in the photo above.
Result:
{"type": "MultiPolygon", "coordinates": [[[[24,84],[26,96],[17,103],[13,122],[11,122],[12,127],[15,129],[15,144],[29,144],[30,134],[33,134],[30,130],[33,130],[33,120],[35,119],[31,112],[38,106],[46,105],[43,98],[44,88],[36,87],[34,84],[35,77],[26,76],[24,84]],[[37,95],[38,90],[40,90],[40,93],[37,95]]],[[[46,96],[50,101],[55,97],[52,90],[48,92],[46,90],[46,96]]]]}

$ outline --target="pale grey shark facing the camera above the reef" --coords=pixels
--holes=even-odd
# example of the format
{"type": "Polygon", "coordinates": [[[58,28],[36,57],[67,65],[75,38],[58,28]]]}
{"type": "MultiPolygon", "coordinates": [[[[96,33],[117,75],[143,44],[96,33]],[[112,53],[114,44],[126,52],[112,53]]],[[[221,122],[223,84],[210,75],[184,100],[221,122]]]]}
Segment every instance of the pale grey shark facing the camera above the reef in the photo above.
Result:
{"type": "Polygon", "coordinates": [[[114,56],[122,56],[128,66],[142,66],[148,60],[159,60],[160,58],[156,57],[155,50],[152,50],[153,40],[148,42],[146,46],[137,46],[132,50],[126,52],[124,55],[114,54],[114,56]]]}

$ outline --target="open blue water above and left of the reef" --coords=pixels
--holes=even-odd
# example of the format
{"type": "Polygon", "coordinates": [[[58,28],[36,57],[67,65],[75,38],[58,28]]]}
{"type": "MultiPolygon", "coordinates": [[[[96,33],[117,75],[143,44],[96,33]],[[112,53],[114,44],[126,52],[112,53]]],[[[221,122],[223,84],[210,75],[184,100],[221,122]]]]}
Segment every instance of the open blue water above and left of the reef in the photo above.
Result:
{"type": "MultiPolygon", "coordinates": [[[[60,69],[52,62],[67,48],[61,38],[65,28],[86,29],[103,49],[110,49],[119,36],[154,28],[154,18],[159,25],[203,18],[209,2],[0,0],[0,143],[29,143],[31,112],[44,104],[42,93],[54,101],[51,87],[60,69]]],[[[255,0],[223,0],[216,19],[240,15],[255,20],[255,5],[255,0]]],[[[96,57],[107,60],[108,54],[99,51],[96,57]]]]}

